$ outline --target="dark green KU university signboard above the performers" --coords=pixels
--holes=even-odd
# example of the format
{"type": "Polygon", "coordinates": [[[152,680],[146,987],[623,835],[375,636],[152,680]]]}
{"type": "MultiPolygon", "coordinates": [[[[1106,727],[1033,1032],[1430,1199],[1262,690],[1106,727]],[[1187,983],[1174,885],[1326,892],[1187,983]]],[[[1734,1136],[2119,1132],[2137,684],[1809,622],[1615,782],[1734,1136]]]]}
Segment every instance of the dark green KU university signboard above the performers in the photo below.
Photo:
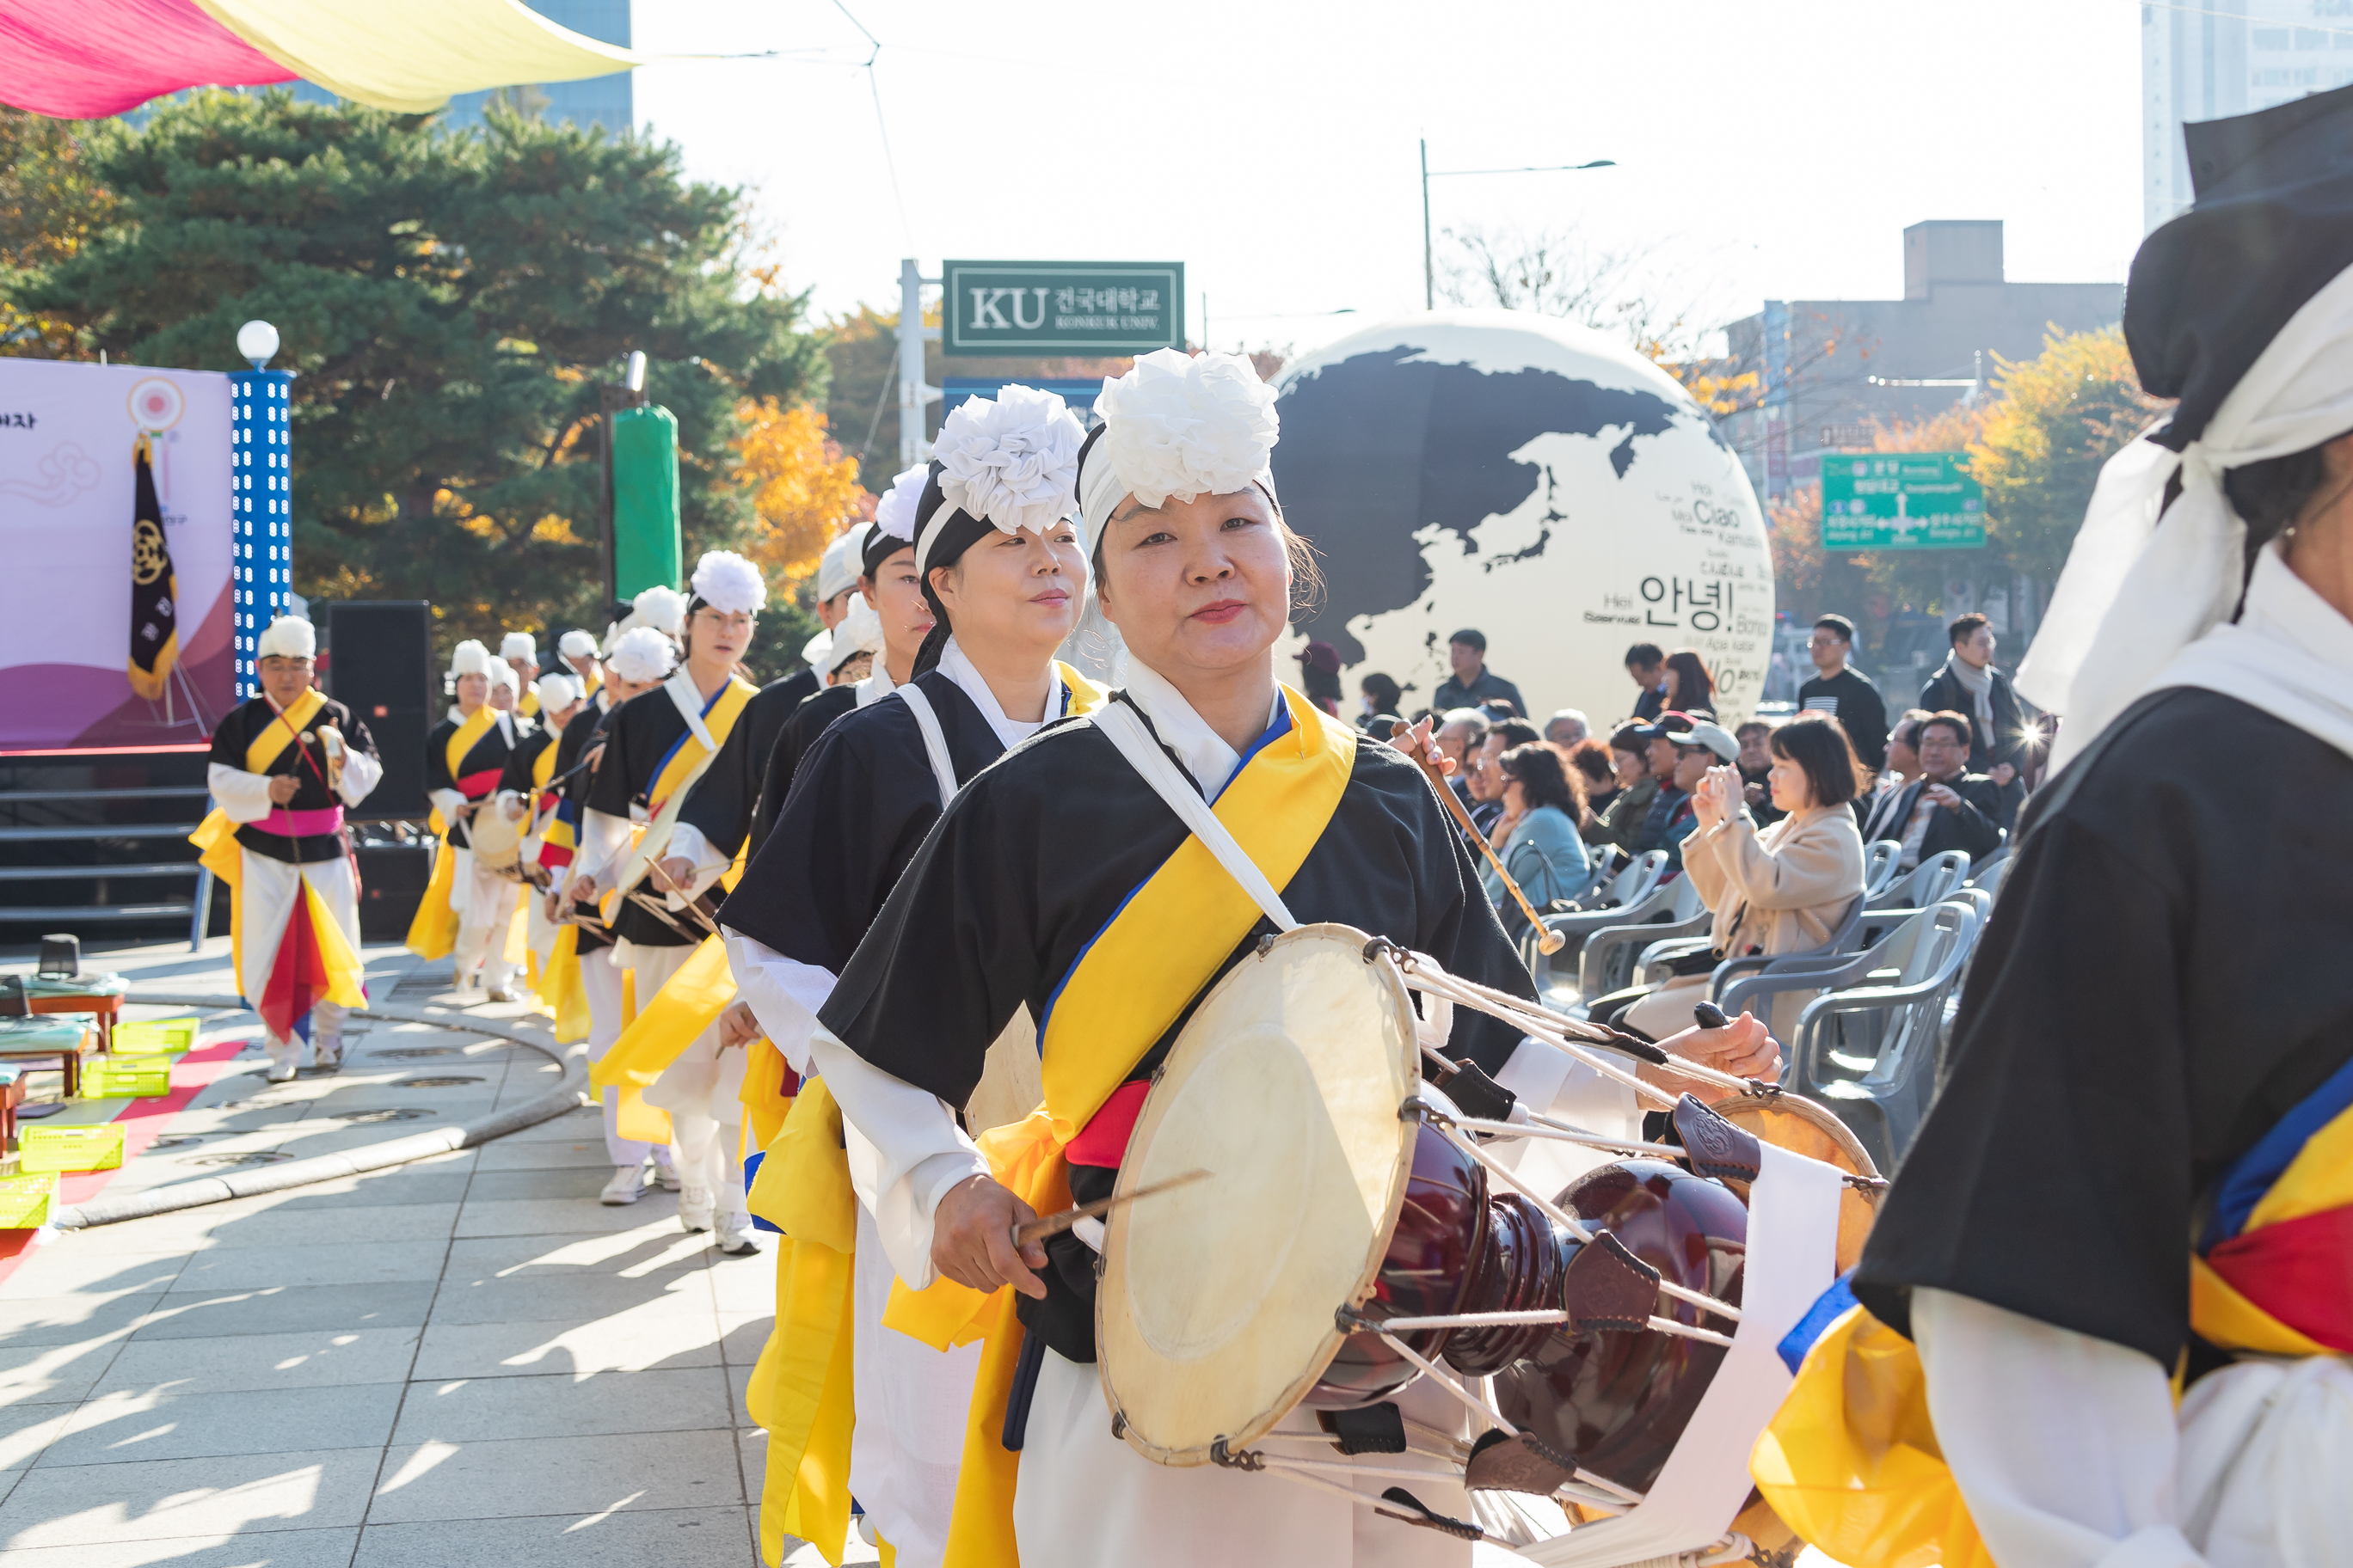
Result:
{"type": "Polygon", "coordinates": [[[939,280],[944,355],[1184,348],[1181,261],[946,261],[939,280]]]}

